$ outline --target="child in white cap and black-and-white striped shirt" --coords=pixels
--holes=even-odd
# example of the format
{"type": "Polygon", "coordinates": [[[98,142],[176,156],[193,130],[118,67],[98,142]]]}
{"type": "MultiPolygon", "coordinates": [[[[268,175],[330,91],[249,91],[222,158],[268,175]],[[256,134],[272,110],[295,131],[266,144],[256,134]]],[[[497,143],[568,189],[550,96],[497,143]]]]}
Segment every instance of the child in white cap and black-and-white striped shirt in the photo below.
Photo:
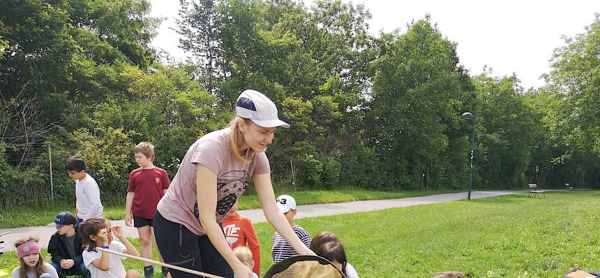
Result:
{"type": "MultiPolygon", "coordinates": [[[[279,210],[285,215],[287,218],[287,222],[292,226],[292,230],[298,238],[306,245],[306,247],[310,246],[310,235],[308,232],[303,229],[301,226],[298,226],[294,223],[294,217],[296,216],[296,200],[289,195],[281,195],[276,199],[277,206],[279,210]]],[[[283,261],[285,258],[290,258],[292,256],[298,256],[298,252],[294,250],[290,243],[279,235],[278,232],[273,234],[273,247],[271,248],[271,256],[273,256],[273,263],[279,263],[283,261]]]]}

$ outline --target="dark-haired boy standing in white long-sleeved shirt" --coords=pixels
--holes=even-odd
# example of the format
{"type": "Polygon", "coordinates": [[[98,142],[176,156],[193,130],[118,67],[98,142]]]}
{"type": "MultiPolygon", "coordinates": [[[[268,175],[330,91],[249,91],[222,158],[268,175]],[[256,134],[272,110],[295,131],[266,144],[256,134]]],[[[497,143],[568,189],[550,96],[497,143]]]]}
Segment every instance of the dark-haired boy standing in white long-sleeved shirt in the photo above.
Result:
{"type": "Polygon", "coordinates": [[[69,177],[75,180],[75,227],[79,227],[85,219],[102,216],[104,208],[100,202],[100,188],[96,180],[86,173],[86,165],[81,157],[69,157],[65,167],[69,177]]]}

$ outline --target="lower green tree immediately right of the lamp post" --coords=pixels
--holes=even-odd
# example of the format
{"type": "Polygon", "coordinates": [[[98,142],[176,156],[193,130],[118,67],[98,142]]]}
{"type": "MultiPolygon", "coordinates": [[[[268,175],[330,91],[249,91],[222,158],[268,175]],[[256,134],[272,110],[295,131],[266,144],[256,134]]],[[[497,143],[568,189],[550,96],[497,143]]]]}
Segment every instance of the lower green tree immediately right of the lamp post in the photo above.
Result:
{"type": "MultiPolygon", "coordinates": [[[[477,179],[486,188],[525,185],[536,146],[536,114],[520,93],[516,77],[474,78],[477,93],[477,179]]],[[[531,176],[530,176],[531,177],[531,176]]]]}

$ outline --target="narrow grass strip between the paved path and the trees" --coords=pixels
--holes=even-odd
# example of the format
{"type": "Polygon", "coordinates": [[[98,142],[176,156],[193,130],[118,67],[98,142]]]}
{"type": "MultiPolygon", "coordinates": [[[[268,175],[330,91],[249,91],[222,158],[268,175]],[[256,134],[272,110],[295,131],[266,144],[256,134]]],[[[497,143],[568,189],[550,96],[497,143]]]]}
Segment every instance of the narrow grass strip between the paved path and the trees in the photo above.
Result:
{"type": "MultiPolygon", "coordinates": [[[[409,191],[409,192],[382,192],[366,190],[306,190],[306,191],[285,191],[276,192],[279,194],[290,194],[294,196],[299,205],[311,203],[340,203],[345,201],[358,200],[379,200],[406,198],[412,196],[426,196],[431,194],[440,194],[448,192],[458,192],[450,190],[432,190],[432,191],[409,191]]],[[[123,196],[123,201],[124,201],[123,196]]],[[[239,204],[240,210],[250,208],[260,208],[260,202],[256,195],[243,195],[239,204]]],[[[0,229],[42,226],[54,221],[57,213],[61,211],[75,211],[73,206],[57,205],[48,208],[10,208],[0,212],[0,229]]],[[[107,219],[119,220],[125,217],[125,203],[105,206],[104,215],[107,219]]]]}

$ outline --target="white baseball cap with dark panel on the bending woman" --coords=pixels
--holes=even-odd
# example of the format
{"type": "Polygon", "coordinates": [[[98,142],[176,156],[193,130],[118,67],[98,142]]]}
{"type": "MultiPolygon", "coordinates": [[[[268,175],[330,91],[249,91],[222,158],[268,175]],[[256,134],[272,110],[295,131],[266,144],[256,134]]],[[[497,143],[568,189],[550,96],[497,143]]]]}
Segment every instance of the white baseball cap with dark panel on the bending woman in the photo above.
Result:
{"type": "Polygon", "coordinates": [[[275,103],[254,90],[246,90],[239,95],[235,112],[237,116],[248,118],[263,128],[290,128],[290,125],[278,118],[275,103]]]}

